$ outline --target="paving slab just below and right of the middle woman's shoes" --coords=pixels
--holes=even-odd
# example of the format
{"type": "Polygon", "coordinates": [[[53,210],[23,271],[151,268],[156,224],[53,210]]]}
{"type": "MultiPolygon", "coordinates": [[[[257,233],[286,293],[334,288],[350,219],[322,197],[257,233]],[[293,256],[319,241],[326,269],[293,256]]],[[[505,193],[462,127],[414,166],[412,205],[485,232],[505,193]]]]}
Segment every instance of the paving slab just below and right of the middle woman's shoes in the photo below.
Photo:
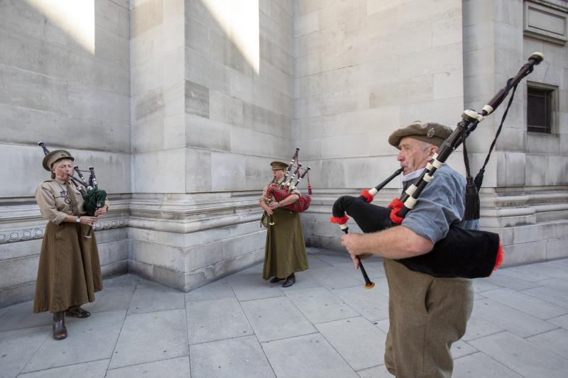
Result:
{"type": "Polygon", "coordinates": [[[286,293],[286,296],[314,324],[359,315],[342,299],[324,287],[290,291],[286,293]]]}

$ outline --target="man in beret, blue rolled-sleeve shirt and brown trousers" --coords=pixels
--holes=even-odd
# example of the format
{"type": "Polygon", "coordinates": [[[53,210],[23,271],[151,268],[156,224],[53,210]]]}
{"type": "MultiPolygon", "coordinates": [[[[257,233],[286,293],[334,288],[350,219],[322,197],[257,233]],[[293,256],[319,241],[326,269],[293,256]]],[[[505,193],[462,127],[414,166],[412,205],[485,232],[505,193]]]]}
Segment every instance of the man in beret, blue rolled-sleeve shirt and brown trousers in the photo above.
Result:
{"type": "MultiPolygon", "coordinates": [[[[395,130],[388,143],[398,148],[407,189],[452,129],[439,123],[414,123],[395,130]]],[[[342,236],[355,266],[359,258],[383,257],[389,289],[390,326],[385,364],[396,377],[450,377],[452,343],[466,331],[473,308],[471,279],[438,278],[415,272],[393,259],[423,255],[446,237],[451,225],[464,227],[466,180],[444,164],[400,223],[377,233],[342,236]]],[[[476,223],[474,223],[476,225],[476,223]]],[[[456,253],[459,253],[457,250],[456,253]]]]}

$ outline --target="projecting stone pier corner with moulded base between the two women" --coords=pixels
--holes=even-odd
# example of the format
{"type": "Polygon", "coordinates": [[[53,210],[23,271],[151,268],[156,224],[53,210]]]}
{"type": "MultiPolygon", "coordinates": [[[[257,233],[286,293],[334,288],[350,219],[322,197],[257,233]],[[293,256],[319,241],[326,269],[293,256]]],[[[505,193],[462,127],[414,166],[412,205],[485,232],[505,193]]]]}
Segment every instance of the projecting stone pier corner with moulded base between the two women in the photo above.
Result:
{"type": "Polygon", "coordinates": [[[262,259],[260,189],[294,150],[292,12],[251,0],[131,9],[132,272],[188,291],[262,259]]]}

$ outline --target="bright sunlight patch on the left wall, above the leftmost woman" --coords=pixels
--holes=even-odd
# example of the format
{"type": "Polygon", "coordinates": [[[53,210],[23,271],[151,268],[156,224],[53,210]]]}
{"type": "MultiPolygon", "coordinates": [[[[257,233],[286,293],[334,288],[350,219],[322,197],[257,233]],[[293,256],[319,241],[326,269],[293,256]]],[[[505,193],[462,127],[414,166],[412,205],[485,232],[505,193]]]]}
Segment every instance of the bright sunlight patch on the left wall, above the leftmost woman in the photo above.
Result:
{"type": "Polygon", "coordinates": [[[94,55],[94,0],[26,0],[94,55]]]}

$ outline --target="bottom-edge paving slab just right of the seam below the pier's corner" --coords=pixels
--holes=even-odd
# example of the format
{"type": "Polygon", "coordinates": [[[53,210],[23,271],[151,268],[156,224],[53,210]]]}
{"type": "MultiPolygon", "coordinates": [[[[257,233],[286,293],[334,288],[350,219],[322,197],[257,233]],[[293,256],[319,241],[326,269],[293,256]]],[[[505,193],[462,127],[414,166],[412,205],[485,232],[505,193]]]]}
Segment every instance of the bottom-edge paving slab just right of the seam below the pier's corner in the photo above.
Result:
{"type": "Polygon", "coordinates": [[[192,377],[275,377],[254,336],[191,345],[192,377]]]}

